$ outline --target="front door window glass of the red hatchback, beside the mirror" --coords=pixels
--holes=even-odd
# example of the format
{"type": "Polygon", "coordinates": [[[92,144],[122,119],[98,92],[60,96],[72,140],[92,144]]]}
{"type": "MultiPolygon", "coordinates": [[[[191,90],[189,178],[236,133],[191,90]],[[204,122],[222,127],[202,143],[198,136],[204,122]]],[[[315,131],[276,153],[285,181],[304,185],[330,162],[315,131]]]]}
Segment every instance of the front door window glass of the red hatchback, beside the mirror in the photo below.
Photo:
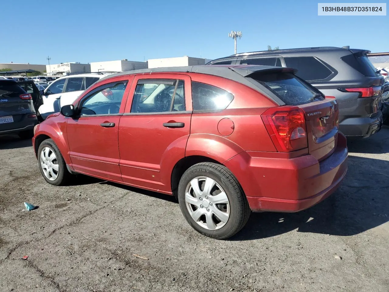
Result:
{"type": "Polygon", "coordinates": [[[127,82],[102,87],[82,100],[80,115],[118,114],[127,82]]]}

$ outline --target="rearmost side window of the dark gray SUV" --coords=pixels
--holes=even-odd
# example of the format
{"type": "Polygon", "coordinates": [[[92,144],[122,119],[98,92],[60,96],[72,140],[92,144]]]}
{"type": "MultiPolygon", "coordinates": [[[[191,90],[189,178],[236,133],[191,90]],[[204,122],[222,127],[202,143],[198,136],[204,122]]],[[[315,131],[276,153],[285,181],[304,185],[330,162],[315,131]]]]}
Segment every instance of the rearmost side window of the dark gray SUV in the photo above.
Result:
{"type": "Polygon", "coordinates": [[[298,69],[296,75],[304,80],[323,80],[332,71],[315,57],[284,57],[286,67],[298,69]]]}

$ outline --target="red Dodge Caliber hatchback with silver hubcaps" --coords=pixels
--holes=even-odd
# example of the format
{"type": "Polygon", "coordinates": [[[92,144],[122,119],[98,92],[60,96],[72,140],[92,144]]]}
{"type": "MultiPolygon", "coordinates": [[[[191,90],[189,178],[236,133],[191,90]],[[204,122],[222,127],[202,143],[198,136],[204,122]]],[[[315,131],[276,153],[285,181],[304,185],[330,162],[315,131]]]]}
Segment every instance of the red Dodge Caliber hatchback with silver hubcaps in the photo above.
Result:
{"type": "Polygon", "coordinates": [[[82,173],[176,195],[198,232],[225,239],[254,212],[297,212],[347,171],[333,97],[292,68],[228,65],[113,74],[35,127],[46,181],[82,173]]]}

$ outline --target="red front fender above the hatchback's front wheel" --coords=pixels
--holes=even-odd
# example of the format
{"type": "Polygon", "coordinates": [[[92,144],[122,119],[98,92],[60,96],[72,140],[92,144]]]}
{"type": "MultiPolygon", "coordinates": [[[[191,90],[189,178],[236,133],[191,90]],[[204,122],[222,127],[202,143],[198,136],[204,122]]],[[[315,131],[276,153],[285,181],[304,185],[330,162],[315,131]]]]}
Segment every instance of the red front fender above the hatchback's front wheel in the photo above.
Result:
{"type": "Polygon", "coordinates": [[[49,136],[57,144],[66,164],[71,164],[69,147],[66,139],[66,121],[61,116],[53,116],[40,123],[35,131],[34,140],[40,135],[49,136]]]}

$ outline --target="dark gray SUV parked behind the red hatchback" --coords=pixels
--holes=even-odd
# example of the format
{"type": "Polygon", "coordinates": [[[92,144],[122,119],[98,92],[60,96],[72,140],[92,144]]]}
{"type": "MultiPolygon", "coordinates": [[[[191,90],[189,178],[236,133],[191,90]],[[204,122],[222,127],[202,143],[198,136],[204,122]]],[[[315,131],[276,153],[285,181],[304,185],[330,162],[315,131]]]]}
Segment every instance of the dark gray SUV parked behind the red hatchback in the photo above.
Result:
{"type": "Polygon", "coordinates": [[[380,100],[384,77],[367,58],[368,50],[348,47],[308,47],[240,53],[207,65],[268,65],[293,67],[301,79],[339,104],[339,130],[366,138],[382,127],[380,100]]]}

